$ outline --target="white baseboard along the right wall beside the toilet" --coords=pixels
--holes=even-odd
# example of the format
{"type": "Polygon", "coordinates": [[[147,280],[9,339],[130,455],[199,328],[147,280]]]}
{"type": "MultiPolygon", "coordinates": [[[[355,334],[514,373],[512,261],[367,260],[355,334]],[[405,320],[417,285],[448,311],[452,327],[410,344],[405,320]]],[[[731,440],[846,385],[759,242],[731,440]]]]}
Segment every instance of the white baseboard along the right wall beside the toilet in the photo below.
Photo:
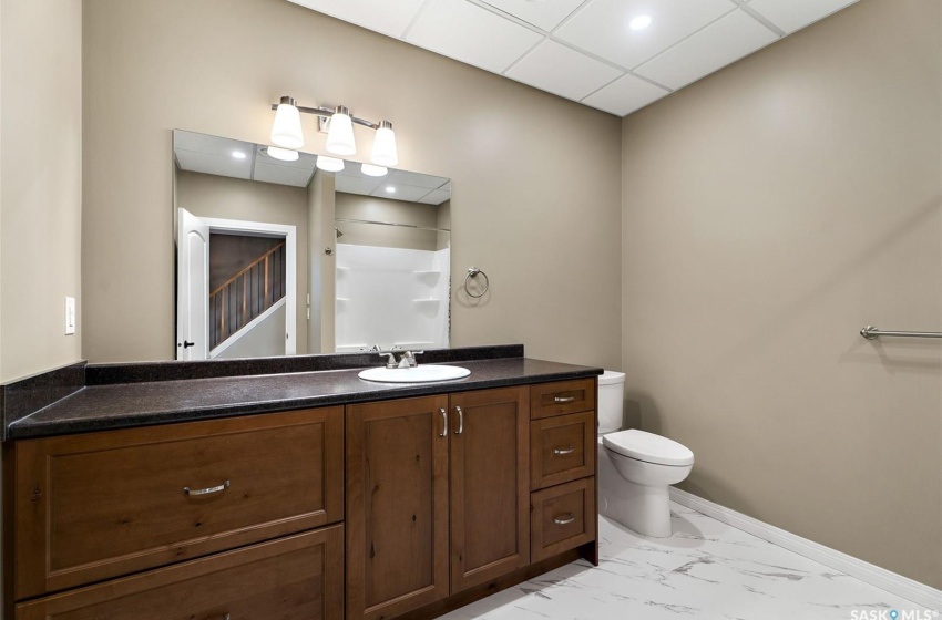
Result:
{"type": "Polygon", "coordinates": [[[925,583],[920,583],[902,575],[889,571],[885,568],[880,568],[879,566],[854,558],[853,556],[848,556],[830,547],[825,547],[823,545],[760,521],[743,513],[737,513],[719,504],[714,504],[679,488],[670,487],[670,499],[692,510],[703,513],[720,523],[757,536],[762,540],[768,540],[789,551],[856,577],[881,590],[911,600],[931,610],[942,611],[942,590],[936,590],[925,583]]]}

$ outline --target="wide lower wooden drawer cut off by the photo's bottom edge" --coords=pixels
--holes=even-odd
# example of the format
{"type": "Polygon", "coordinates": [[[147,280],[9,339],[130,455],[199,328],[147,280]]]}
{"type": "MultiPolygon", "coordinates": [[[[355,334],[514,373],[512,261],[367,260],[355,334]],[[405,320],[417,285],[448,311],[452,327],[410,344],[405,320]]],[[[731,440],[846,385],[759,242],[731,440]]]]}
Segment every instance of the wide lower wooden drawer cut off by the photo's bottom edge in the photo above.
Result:
{"type": "Polygon", "coordinates": [[[341,620],[344,526],[17,606],[17,620],[341,620]]]}

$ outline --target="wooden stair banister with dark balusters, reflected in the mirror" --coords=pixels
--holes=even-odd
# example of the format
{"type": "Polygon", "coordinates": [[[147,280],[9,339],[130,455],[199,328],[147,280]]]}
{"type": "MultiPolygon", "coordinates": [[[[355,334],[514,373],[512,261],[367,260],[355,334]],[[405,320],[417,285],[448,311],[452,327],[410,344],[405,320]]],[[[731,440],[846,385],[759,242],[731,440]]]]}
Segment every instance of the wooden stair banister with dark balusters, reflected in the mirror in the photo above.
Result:
{"type": "Polygon", "coordinates": [[[281,242],[209,293],[211,350],[285,297],[284,262],[281,242]]]}

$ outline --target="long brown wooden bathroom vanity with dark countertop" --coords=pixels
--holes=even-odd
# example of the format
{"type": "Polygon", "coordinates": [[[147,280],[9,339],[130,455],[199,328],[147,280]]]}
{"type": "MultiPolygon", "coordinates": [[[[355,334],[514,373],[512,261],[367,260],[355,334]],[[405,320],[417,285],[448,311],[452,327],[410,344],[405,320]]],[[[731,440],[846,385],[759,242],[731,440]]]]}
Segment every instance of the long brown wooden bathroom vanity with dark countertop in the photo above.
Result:
{"type": "Polygon", "coordinates": [[[95,370],[8,421],[7,617],[434,618],[596,562],[601,369],[452,363],[471,375],[95,370]]]}

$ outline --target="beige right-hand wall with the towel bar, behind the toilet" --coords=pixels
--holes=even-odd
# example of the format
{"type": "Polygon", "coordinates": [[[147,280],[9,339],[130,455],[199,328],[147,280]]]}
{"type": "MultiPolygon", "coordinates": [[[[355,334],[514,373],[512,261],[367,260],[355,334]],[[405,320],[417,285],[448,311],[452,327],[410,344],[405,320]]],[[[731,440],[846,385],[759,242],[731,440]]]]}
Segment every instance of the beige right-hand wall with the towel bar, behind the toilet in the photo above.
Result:
{"type": "Polygon", "coordinates": [[[687,490],[942,587],[940,3],[862,0],[623,124],[629,421],[687,490]]]}

